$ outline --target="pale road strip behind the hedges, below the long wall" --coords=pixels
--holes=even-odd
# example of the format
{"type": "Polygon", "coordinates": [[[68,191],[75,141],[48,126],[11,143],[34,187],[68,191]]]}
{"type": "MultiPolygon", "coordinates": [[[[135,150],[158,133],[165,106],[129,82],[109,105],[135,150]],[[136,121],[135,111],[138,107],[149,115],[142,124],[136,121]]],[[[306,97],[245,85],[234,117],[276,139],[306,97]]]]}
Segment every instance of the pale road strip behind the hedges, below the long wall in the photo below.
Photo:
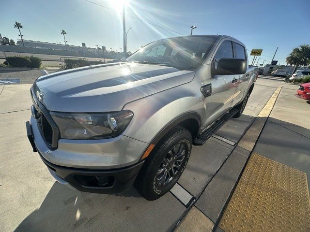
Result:
{"type": "MultiPolygon", "coordinates": [[[[47,54],[33,54],[33,53],[18,53],[18,52],[5,52],[7,57],[10,56],[34,56],[34,57],[38,57],[41,59],[48,59],[47,60],[43,60],[42,61],[42,65],[46,65],[46,66],[59,66],[60,64],[62,64],[62,62],[60,61],[60,58],[62,57],[66,57],[66,58],[77,58],[77,57],[72,57],[72,56],[58,56],[58,55],[47,55],[47,54]]],[[[83,58],[83,57],[78,57],[78,58],[83,58]]],[[[88,60],[102,60],[103,58],[92,58],[92,57],[86,57],[88,60]]],[[[4,53],[3,51],[0,51],[0,63],[4,62],[4,53]]],[[[63,60],[63,58],[62,58],[63,60]]],[[[106,61],[109,61],[111,59],[105,59],[106,61]]]]}

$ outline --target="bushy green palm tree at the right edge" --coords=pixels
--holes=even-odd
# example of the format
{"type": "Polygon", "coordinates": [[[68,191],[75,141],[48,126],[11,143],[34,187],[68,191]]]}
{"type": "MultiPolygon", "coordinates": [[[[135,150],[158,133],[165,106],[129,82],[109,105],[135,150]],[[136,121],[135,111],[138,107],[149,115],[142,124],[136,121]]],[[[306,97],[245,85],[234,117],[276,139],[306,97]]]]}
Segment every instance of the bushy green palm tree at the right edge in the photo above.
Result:
{"type": "Polygon", "coordinates": [[[289,65],[294,65],[294,72],[296,72],[299,66],[307,66],[310,62],[310,45],[302,44],[299,47],[295,47],[291,54],[286,58],[286,62],[289,65]]]}

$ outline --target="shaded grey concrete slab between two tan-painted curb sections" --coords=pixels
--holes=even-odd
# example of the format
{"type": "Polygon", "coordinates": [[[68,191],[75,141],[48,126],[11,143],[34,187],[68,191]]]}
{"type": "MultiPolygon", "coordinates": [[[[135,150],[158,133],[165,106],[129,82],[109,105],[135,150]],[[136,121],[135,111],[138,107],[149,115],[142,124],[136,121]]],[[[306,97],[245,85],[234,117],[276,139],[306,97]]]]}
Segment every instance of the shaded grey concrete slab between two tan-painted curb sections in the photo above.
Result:
{"type": "Polygon", "coordinates": [[[234,150],[195,203],[207,217],[216,223],[248,156],[234,150]]]}

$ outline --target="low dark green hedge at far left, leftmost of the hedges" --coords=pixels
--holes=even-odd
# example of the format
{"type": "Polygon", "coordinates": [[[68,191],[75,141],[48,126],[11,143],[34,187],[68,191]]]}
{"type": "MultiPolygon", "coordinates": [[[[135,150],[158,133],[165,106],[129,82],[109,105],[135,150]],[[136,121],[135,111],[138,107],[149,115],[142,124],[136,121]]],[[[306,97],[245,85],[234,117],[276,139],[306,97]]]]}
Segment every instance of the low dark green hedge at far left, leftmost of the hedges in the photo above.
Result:
{"type": "Polygon", "coordinates": [[[40,68],[41,66],[41,59],[38,57],[24,57],[24,56],[14,56],[14,57],[7,57],[6,61],[10,64],[11,67],[18,67],[18,68],[40,68]]]}

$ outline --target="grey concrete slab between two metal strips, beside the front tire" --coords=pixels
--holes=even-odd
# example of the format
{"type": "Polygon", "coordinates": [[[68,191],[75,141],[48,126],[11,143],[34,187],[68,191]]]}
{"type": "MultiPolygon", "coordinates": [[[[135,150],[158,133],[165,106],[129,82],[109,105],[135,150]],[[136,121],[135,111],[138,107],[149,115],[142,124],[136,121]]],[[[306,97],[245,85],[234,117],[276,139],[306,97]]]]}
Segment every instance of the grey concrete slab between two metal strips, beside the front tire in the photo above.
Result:
{"type": "Polygon", "coordinates": [[[186,169],[178,183],[197,197],[231,151],[232,149],[210,139],[202,146],[193,146],[186,169]]]}

